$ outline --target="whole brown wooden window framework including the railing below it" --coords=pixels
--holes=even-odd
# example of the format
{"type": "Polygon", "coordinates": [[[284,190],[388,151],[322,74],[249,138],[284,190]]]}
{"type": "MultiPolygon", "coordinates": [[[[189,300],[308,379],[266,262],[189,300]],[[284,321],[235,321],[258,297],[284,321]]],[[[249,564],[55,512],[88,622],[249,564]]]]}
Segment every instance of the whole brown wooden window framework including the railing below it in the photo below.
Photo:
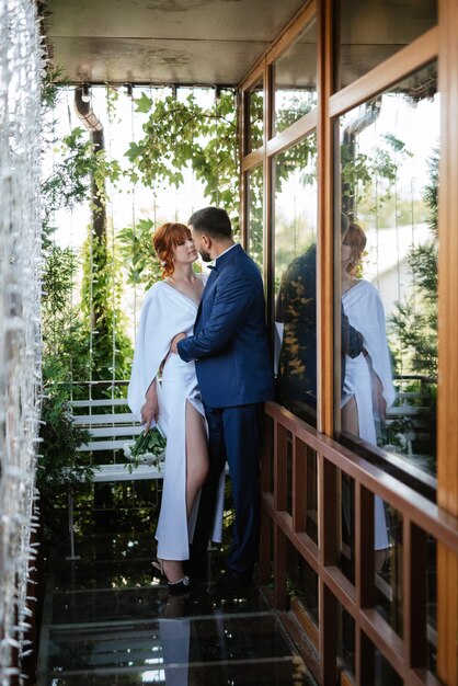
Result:
{"type": "MultiPolygon", "coordinates": [[[[274,217],[272,162],[276,155],[317,132],[318,138],[318,428],[305,424],[276,403],[266,403],[265,412],[274,422],[273,445],[267,445],[263,459],[263,514],[261,536],[261,581],[275,575],[273,604],[284,609],[286,592],[286,545],[298,550],[319,578],[320,625],[314,640],[319,642],[322,684],[336,682],[336,614],[340,603],[355,621],[355,683],[371,683],[370,660],[376,647],[407,684],[458,683],[458,7],[455,0],[438,0],[437,25],[400,49],[370,72],[347,87],[333,91],[333,14],[337,0],[317,0],[306,4],[268,48],[262,59],[240,83],[243,93],[264,77],[263,146],[242,157],[242,175],[259,164],[264,168],[264,278],[272,323],[274,274],[274,217]],[[273,136],[272,68],[276,59],[294,43],[307,23],[318,21],[318,107],[288,129],[273,136]],[[353,107],[386,91],[419,68],[437,59],[442,102],[440,185],[439,185],[439,380],[437,504],[420,495],[396,478],[381,472],[352,450],[334,442],[336,397],[334,361],[335,285],[334,285],[334,126],[335,121],[353,107]],[[318,456],[319,545],[317,546],[297,522],[304,483],[294,479],[293,516],[285,510],[286,453],[282,448],[284,431],[293,434],[293,472],[302,473],[297,465],[297,446],[309,446],[318,456]],[[299,443],[298,443],[299,442],[299,443]],[[272,465],[273,460],[273,465],[272,465]],[[266,470],[274,468],[274,493],[270,492],[266,470]],[[355,480],[356,567],[355,584],[351,584],[336,567],[336,478],[339,470],[355,480]],[[374,557],[371,521],[374,496],[379,495],[396,507],[403,518],[403,639],[374,608],[374,557]],[[296,513],[296,514],[295,514],[296,513]],[[365,526],[360,525],[365,522],[365,526]],[[274,552],[270,551],[274,527],[274,552]],[[437,673],[426,671],[426,583],[416,572],[425,568],[426,536],[437,540],[437,673]],[[267,540],[268,539],[268,540],[267,540]],[[271,569],[271,560],[274,569],[271,569]]],[[[245,124],[244,124],[245,125],[245,124]]],[[[242,184],[242,215],[245,199],[242,184]]],[[[247,238],[247,237],[245,237],[247,238]]],[[[307,449],[307,448],[304,448],[307,449]]],[[[302,479],[300,481],[302,481],[302,479]]],[[[347,677],[345,677],[347,678],[347,677]]]]}

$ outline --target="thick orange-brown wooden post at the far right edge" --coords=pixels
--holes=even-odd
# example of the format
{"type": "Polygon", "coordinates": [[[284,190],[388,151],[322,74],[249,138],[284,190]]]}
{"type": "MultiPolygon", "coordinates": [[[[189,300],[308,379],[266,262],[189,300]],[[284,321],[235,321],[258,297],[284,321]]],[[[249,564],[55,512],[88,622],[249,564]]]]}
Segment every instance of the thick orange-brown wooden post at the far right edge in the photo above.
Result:
{"type": "MultiPolygon", "coordinates": [[[[458,516],[458,5],[439,2],[439,352],[437,503],[458,516]]],[[[458,559],[437,546],[437,673],[458,684],[458,559]]]]}

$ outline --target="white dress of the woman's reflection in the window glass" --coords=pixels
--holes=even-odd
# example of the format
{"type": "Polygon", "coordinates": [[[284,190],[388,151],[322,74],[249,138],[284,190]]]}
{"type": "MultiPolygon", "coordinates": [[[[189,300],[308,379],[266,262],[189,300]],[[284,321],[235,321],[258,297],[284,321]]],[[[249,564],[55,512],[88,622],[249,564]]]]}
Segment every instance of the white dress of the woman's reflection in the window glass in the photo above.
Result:
{"type": "MultiPolygon", "coordinates": [[[[378,408],[374,402],[373,381],[375,375],[381,381],[383,398],[389,408],[394,400],[390,353],[385,325],[385,312],[377,289],[367,281],[360,279],[342,296],[342,304],[348,321],[364,339],[368,355],[360,353],[353,359],[345,357],[345,379],[342,404],[355,398],[359,437],[377,445],[375,421],[379,420],[378,408]]],[[[387,522],[383,503],[376,496],[375,546],[376,550],[388,548],[387,522]]]]}

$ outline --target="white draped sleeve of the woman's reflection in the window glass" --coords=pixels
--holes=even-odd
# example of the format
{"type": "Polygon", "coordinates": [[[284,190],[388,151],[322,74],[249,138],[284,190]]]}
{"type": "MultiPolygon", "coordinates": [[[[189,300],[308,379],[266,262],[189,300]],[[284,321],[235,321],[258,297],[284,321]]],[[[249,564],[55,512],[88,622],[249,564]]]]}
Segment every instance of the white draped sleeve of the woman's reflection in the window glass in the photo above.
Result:
{"type": "Polygon", "coordinates": [[[364,347],[369,353],[373,369],[381,381],[383,398],[389,408],[394,402],[396,393],[383,305],[378,290],[373,284],[362,279],[343,295],[342,304],[352,327],[363,334],[364,347]]]}

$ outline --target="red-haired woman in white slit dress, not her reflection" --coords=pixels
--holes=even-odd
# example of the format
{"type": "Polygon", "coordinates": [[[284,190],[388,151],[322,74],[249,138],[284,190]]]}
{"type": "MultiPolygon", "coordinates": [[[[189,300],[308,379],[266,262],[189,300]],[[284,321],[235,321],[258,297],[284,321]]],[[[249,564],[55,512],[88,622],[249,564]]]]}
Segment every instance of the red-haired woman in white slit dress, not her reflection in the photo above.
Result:
{"type": "MultiPolygon", "coordinates": [[[[145,425],[167,436],[161,511],[153,565],[171,592],[190,585],[183,561],[190,557],[201,488],[208,472],[207,425],[194,362],[170,353],[179,332],[192,335],[206,277],[196,274],[197,251],[183,224],[167,222],[153,236],[163,281],[147,291],[137,332],[128,404],[145,425]]],[[[221,540],[222,488],[213,539],[221,540]]]]}

